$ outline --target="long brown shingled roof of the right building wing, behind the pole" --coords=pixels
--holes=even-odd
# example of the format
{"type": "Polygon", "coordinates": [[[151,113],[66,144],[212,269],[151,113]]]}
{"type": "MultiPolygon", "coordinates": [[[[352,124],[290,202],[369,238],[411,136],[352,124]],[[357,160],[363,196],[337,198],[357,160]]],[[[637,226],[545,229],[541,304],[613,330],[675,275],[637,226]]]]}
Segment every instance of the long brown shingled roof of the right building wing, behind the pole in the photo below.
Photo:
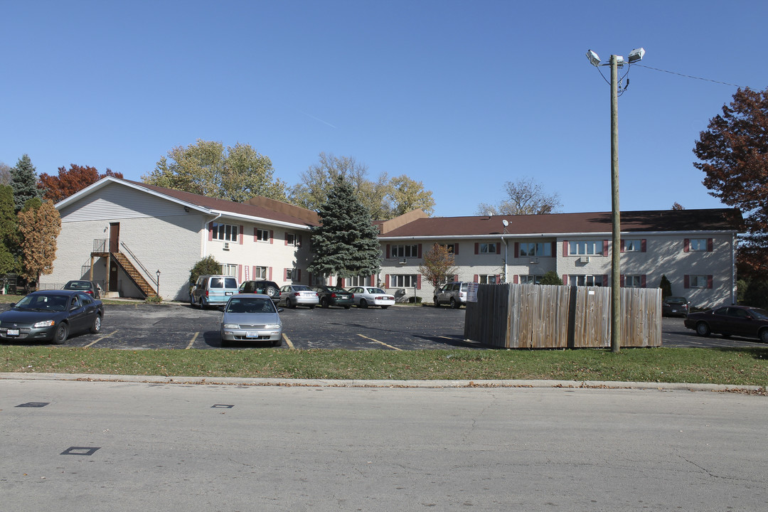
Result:
{"type": "MultiPolygon", "coordinates": [[[[739,231],[742,229],[742,224],[741,212],[737,208],[621,212],[623,233],[739,231]]],[[[611,212],[419,218],[382,233],[379,238],[479,238],[501,235],[502,230],[518,236],[611,233],[611,212]],[[507,220],[509,223],[506,229],[502,220],[507,220]]]]}

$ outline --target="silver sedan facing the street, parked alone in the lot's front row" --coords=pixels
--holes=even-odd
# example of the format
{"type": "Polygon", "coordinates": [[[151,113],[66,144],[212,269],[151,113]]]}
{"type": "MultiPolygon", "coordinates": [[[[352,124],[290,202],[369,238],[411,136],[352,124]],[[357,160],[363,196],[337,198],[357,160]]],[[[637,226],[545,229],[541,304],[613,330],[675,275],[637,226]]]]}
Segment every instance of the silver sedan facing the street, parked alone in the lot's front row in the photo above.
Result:
{"type": "Polygon", "coordinates": [[[227,342],[271,342],[283,345],[283,322],[270,296],[243,294],[231,296],[221,315],[221,344],[227,342]]]}

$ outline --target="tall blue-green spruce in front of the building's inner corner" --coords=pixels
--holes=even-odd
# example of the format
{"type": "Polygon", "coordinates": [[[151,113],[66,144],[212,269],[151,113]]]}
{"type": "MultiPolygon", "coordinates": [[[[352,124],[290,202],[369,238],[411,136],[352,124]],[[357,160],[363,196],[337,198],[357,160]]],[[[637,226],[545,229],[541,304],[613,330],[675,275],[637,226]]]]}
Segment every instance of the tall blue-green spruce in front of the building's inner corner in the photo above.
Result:
{"type": "Polygon", "coordinates": [[[321,225],[312,230],[315,258],[310,272],[340,279],[370,276],[379,272],[379,230],[371,223],[369,210],[355,197],[344,177],[337,177],[326,202],[317,212],[321,225]]]}

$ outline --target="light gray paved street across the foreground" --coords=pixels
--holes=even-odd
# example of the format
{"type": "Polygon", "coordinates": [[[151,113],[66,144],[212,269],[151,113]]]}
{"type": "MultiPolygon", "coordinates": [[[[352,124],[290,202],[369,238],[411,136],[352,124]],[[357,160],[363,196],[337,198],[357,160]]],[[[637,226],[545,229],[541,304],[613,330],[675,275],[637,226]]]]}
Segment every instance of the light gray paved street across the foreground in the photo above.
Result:
{"type": "Polygon", "coordinates": [[[0,381],[2,510],[768,510],[765,398],[0,381]]]}

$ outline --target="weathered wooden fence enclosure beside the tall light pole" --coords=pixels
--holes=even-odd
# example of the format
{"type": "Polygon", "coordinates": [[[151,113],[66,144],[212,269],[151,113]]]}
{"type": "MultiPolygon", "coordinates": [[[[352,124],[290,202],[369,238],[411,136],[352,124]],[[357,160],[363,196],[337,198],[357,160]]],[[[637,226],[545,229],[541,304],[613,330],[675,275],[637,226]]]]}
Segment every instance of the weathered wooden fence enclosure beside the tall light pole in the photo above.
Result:
{"type": "MultiPolygon", "coordinates": [[[[499,348],[611,346],[611,289],[602,286],[479,285],[465,339],[499,348]]],[[[661,346],[661,289],[621,289],[621,346],[661,346]]]]}

